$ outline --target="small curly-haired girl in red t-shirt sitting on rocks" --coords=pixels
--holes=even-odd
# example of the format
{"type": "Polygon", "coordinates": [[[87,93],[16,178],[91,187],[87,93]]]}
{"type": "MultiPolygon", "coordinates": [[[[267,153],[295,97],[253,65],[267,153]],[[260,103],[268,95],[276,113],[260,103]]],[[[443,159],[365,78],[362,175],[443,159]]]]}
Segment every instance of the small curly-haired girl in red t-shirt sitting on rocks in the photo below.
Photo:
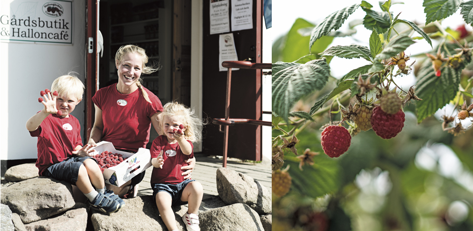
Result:
{"type": "Polygon", "coordinates": [[[160,120],[160,135],[151,146],[151,188],[153,198],[168,230],[178,230],[174,211],[171,206],[189,203],[187,213],[182,220],[187,230],[199,228],[199,210],[202,202],[202,185],[184,179],[181,170],[188,165],[186,159],[194,157],[192,142],[200,142],[203,123],[194,116],[194,111],[183,104],[170,102],[164,105],[160,120]]]}

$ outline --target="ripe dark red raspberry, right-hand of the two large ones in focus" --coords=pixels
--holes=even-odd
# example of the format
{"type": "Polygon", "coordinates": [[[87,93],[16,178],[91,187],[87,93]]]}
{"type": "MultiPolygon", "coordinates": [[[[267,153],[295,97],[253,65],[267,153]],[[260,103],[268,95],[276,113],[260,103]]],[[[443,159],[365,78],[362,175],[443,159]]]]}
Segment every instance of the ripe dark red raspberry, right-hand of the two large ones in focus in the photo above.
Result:
{"type": "Polygon", "coordinates": [[[382,139],[391,139],[397,136],[403,130],[404,121],[404,112],[401,109],[396,114],[388,114],[377,106],[371,115],[373,130],[382,139]]]}

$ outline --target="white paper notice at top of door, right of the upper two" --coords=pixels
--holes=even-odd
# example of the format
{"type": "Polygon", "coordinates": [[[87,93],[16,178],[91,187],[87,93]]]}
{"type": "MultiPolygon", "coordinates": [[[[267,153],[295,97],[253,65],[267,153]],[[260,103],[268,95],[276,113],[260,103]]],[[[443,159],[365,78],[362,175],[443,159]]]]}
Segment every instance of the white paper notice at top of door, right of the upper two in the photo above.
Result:
{"type": "Polygon", "coordinates": [[[253,29],[253,0],[231,1],[231,31],[253,29]]]}

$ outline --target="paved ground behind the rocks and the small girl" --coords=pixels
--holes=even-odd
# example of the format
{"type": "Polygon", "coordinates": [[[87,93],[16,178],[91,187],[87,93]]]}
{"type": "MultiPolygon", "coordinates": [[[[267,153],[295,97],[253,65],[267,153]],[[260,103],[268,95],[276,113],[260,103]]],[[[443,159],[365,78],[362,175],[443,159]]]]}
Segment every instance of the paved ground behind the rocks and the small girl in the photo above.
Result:
{"type": "MultiPolygon", "coordinates": [[[[197,163],[192,172],[192,179],[199,181],[204,187],[204,197],[209,198],[212,195],[218,195],[216,185],[217,169],[222,167],[223,160],[214,157],[207,157],[203,154],[195,155],[197,163]]],[[[238,159],[228,159],[227,168],[243,173],[258,180],[268,190],[271,191],[271,166],[254,163],[242,163],[238,159]]],[[[146,175],[139,184],[138,196],[152,195],[150,187],[152,167],[146,169],[146,175]]]]}

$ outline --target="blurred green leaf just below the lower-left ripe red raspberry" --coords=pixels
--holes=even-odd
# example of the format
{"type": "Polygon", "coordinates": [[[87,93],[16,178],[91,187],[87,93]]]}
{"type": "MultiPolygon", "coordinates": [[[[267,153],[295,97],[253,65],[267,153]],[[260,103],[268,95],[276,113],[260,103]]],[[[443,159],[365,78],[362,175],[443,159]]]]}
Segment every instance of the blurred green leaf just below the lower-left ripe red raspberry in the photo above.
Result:
{"type": "Polygon", "coordinates": [[[340,184],[340,167],[337,161],[324,153],[313,157],[314,165],[305,164],[300,171],[299,159],[284,157],[284,165],[291,167],[287,171],[292,178],[291,189],[313,198],[337,191],[340,184]]]}

